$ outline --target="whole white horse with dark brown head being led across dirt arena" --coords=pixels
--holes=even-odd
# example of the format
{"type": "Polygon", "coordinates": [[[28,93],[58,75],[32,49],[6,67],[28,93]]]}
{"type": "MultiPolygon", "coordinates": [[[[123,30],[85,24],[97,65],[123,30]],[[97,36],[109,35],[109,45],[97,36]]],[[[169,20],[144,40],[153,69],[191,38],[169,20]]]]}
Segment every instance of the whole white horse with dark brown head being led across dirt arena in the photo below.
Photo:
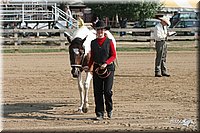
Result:
{"type": "MultiPolygon", "coordinates": [[[[115,48],[116,40],[113,35],[107,30],[106,35],[108,38],[112,39],[115,48]]],[[[74,32],[72,37],[67,37],[70,43],[69,55],[70,64],[72,67],[71,74],[74,78],[78,80],[78,88],[80,93],[80,106],[78,107],[78,112],[86,113],[89,108],[88,104],[88,91],[90,87],[90,81],[92,79],[92,74],[85,71],[84,68],[88,67],[91,41],[96,39],[96,31],[89,30],[86,26],[82,26],[77,31],[74,32]],[[85,80],[83,82],[82,72],[85,71],[85,80]]]]}

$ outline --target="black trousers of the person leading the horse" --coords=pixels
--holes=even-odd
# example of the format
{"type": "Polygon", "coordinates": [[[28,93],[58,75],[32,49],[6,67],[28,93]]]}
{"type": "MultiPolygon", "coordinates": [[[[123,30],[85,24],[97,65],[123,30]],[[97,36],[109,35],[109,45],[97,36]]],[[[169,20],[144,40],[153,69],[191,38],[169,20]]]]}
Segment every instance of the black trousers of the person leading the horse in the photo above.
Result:
{"type": "Polygon", "coordinates": [[[93,73],[93,88],[94,88],[94,99],[95,99],[95,113],[96,116],[104,116],[104,100],[106,105],[106,111],[110,112],[113,110],[112,101],[112,87],[113,87],[114,71],[107,78],[100,78],[94,72],[93,73]]]}

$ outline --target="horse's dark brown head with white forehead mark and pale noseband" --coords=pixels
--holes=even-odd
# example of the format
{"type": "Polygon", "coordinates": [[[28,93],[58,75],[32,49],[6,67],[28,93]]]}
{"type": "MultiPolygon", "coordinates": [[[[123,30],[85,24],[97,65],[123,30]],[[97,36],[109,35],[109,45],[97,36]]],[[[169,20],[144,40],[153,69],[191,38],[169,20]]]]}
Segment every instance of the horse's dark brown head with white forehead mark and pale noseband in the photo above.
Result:
{"type": "Polygon", "coordinates": [[[86,37],[84,39],[76,37],[72,41],[69,41],[69,56],[70,64],[72,67],[71,74],[74,78],[78,77],[79,70],[80,68],[82,68],[83,65],[83,60],[85,56],[85,49],[83,43],[85,40],[86,37]]]}

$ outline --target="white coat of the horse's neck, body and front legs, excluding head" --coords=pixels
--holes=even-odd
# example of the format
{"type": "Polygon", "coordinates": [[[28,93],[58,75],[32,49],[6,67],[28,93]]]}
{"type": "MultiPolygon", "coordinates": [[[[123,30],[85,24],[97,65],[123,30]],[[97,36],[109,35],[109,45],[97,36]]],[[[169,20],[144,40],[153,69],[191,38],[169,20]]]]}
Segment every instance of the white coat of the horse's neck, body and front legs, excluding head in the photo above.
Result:
{"type": "MultiPolygon", "coordinates": [[[[112,39],[115,49],[116,49],[116,40],[113,37],[113,35],[106,30],[105,31],[108,38],[112,39]]],[[[79,37],[81,39],[84,39],[87,36],[85,42],[83,43],[83,46],[85,48],[85,55],[90,52],[91,50],[91,41],[96,39],[96,31],[95,30],[89,30],[86,26],[82,26],[77,31],[74,32],[72,39],[79,37]]],[[[84,110],[88,110],[89,104],[88,104],[88,91],[90,88],[90,81],[92,79],[92,74],[90,72],[86,71],[86,78],[83,84],[83,78],[82,73],[80,72],[78,75],[78,88],[80,93],[80,106],[78,107],[78,111],[82,112],[84,110]]]]}

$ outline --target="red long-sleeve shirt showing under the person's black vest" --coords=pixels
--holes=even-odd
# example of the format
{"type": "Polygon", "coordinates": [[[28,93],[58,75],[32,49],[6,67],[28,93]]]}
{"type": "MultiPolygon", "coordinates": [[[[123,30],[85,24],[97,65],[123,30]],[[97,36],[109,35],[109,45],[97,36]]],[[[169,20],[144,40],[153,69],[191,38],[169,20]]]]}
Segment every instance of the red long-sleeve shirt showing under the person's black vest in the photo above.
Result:
{"type": "MultiPolygon", "coordinates": [[[[98,42],[99,46],[102,46],[105,40],[106,40],[106,36],[103,38],[97,38],[97,42],[98,42]]],[[[108,58],[106,60],[106,64],[110,64],[111,62],[113,62],[116,59],[116,50],[115,50],[115,47],[114,47],[114,44],[112,41],[110,41],[110,54],[111,54],[111,56],[110,56],[110,58],[108,58]]],[[[101,56],[101,55],[99,55],[99,56],[101,56]]],[[[94,62],[93,57],[94,57],[94,52],[91,50],[89,68],[92,66],[92,64],[94,62]]]]}

